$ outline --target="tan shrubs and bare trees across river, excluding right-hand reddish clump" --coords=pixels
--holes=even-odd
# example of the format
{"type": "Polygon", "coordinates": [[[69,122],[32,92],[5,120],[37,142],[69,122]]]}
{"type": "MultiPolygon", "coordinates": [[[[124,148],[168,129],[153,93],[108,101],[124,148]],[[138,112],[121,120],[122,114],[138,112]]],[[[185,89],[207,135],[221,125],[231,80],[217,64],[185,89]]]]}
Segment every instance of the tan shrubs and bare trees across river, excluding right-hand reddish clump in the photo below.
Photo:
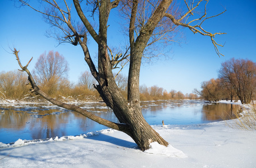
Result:
{"type": "MultiPolygon", "coordinates": [[[[94,84],[97,81],[89,71],[81,73],[79,82],[71,83],[68,78],[68,62],[58,52],[49,51],[38,58],[32,71],[34,80],[45,94],[62,101],[100,101],[94,84]]],[[[127,77],[115,75],[117,87],[127,97],[127,77]]],[[[45,101],[30,91],[28,77],[20,71],[0,73],[0,100],[45,101]]],[[[163,99],[197,99],[195,94],[182,94],[180,91],[167,92],[158,86],[141,86],[141,101],[163,99]]]]}

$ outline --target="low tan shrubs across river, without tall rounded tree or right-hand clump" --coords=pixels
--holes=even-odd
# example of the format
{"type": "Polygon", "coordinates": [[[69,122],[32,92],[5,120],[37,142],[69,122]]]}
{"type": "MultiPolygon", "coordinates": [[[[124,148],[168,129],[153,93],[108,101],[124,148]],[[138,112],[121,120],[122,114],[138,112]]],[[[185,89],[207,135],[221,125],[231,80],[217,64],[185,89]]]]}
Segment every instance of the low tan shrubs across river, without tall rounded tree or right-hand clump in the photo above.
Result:
{"type": "MultiPolygon", "coordinates": [[[[69,99],[87,101],[100,101],[97,90],[93,87],[94,79],[90,73],[81,73],[77,84],[71,83],[66,78],[58,78],[40,83],[42,91],[56,99],[69,99]]],[[[118,74],[116,78],[117,86],[124,96],[127,95],[126,77],[118,74]]],[[[95,83],[96,84],[96,83],[95,83]]],[[[8,71],[0,73],[0,100],[24,100],[24,101],[44,101],[39,96],[31,93],[28,77],[20,71],[8,71]]],[[[182,94],[181,91],[171,90],[167,92],[162,87],[145,85],[140,86],[141,101],[147,100],[170,100],[170,99],[198,99],[196,94],[182,94]]]]}

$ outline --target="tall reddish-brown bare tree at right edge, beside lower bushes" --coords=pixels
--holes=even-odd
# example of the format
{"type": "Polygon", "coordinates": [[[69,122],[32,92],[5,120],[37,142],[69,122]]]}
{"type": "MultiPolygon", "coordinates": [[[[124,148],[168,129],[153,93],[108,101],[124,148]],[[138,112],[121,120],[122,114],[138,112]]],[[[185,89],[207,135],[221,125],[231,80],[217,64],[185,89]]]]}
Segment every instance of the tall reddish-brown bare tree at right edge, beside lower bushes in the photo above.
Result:
{"type": "Polygon", "coordinates": [[[256,93],[256,63],[232,58],[221,64],[218,75],[226,86],[232,86],[229,88],[230,94],[235,90],[242,104],[252,101],[256,93]]]}

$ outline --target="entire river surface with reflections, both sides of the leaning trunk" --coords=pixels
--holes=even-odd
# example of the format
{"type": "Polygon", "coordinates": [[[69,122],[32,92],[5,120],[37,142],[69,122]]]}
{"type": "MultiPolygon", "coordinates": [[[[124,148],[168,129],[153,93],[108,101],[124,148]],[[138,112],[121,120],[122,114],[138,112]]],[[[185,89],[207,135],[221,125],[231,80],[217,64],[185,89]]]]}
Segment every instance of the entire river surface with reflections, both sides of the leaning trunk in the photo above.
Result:
{"type": "MultiPolygon", "coordinates": [[[[115,114],[103,103],[80,104],[81,108],[104,119],[117,122],[115,114]]],[[[149,124],[200,124],[221,120],[223,115],[236,113],[238,105],[208,104],[197,100],[167,100],[141,102],[143,115],[149,124]]],[[[230,119],[230,118],[228,118],[230,119]]],[[[76,136],[107,127],[83,115],[48,104],[0,105],[0,142],[17,139],[46,139],[76,136]]]]}

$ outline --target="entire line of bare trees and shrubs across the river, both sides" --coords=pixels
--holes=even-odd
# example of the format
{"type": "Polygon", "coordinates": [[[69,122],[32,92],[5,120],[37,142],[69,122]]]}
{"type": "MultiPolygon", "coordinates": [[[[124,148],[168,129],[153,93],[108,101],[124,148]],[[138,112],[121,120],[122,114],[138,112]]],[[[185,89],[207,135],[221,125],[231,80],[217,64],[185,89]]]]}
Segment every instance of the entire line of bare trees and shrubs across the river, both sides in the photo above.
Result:
{"type": "MultiPolygon", "coordinates": [[[[67,101],[101,101],[90,72],[81,73],[79,82],[67,78],[68,63],[58,52],[50,51],[38,58],[33,71],[39,88],[51,97],[67,101]]],[[[127,77],[115,75],[120,92],[127,97],[127,77]]],[[[202,82],[202,90],[193,94],[164,90],[162,87],[140,86],[140,100],[204,99],[208,101],[240,100],[248,104],[256,98],[256,63],[246,59],[230,59],[221,64],[218,78],[202,82]],[[200,97],[198,96],[200,95],[200,97]]],[[[28,77],[20,71],[0,73],[0,100],[45,101],[30,91],[28,77]]]]}

